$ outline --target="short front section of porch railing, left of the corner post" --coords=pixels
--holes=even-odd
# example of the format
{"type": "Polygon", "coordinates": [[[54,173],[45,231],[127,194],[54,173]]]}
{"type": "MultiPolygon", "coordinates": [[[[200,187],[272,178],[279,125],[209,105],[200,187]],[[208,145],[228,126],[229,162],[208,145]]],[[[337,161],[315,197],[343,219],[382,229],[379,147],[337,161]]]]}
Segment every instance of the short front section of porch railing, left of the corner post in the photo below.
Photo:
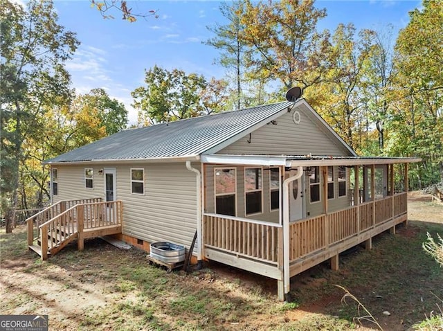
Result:
{"type": "Polygon", "coordinates": [[[282,234],[281,229],[280,224],[270,222],[204,214],[206,247],[275,265],[278,262],[278,241],[282,234]]]}

